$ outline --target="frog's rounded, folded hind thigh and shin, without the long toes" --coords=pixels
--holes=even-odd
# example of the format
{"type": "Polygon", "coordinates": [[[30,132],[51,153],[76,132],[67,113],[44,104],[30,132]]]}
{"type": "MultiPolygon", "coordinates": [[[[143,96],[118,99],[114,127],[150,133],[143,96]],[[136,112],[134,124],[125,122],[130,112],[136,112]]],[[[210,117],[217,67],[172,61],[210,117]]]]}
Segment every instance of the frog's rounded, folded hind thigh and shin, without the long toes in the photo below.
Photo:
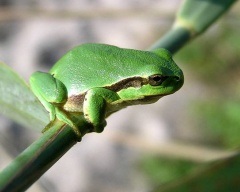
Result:
{"type": "Polygon", "coordinates": [[[62,103],[67,99],[67,91],[63,83],[49,73],[35,72],[30,77],[30,85],[34,94],[50,112],[50,119],[55,118],[55,107],[52,103],[62,103]]]}

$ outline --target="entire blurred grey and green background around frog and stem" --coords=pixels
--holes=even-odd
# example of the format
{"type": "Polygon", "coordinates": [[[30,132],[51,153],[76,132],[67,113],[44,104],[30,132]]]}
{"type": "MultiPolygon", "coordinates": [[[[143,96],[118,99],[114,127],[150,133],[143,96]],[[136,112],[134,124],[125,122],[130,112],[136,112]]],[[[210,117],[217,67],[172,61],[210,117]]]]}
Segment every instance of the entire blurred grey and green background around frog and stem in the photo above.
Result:
{"type": "MultiPolygon", "coordinates": [[[[0,0],[0,61],[28,81],[82,43],[147,49],[171,27],[180,3],[0,0]]],[[[237,2],[174,56],[185,74],[180,91],[112,115],[103,133],[86,135],[28,191],[144,192],[239,149],[239,19],[237,2]]],[[[4,168],[41,130],[4,116],[0,122],[4,168]]]]}

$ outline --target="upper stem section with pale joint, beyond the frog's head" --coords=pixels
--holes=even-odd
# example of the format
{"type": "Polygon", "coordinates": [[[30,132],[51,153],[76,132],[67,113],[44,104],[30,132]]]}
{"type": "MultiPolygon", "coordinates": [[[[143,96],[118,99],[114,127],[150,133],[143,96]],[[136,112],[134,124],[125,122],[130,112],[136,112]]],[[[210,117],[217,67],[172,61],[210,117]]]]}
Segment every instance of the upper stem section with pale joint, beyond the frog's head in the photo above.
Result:
{"type": "Polygon", "coordinates": [[[173,27],[150,50],[165,48],[176,53],[223,15],[236,0],[185,0],[179,8],[173,27]]]}

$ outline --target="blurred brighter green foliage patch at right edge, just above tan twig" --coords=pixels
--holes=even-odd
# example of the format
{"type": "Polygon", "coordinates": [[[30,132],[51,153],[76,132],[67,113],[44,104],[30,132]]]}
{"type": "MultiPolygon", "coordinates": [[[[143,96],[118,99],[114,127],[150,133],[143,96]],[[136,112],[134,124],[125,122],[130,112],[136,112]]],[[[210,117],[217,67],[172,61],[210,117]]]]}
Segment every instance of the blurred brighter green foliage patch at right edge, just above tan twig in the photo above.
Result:
{"type": "Polygon", "coordinates": [[[195,114],[201,116],[199,126],[217,147],[236,149],[240,146],[240,101],[223,98],[195,104],[195,114]]]}

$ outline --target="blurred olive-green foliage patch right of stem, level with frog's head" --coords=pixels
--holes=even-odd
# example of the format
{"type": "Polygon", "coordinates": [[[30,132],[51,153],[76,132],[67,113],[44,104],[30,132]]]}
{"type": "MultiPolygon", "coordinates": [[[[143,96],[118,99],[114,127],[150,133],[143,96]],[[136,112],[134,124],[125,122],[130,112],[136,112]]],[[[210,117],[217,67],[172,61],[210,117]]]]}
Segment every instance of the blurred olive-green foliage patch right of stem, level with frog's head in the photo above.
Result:
{"type": "Polygon", "coordinates": [[[178,58],[206,86],[226,90],[239,80],[239,53],[238,30],[234,30],[230,24],[222,24],[187,45],[180,51],[178,58]]]}

